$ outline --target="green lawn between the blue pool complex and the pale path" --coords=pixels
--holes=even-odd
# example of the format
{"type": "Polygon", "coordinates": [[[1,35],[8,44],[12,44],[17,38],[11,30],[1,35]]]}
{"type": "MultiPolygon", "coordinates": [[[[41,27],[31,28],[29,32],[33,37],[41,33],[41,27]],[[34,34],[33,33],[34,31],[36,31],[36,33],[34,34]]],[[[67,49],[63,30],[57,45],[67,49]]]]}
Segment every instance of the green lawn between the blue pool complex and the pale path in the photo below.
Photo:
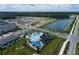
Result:
{"type": "Polygon", "coordinates": [[[54,37],[43,49],[39,52],[41,55],[57,55],[65,39],[54,37]]]}

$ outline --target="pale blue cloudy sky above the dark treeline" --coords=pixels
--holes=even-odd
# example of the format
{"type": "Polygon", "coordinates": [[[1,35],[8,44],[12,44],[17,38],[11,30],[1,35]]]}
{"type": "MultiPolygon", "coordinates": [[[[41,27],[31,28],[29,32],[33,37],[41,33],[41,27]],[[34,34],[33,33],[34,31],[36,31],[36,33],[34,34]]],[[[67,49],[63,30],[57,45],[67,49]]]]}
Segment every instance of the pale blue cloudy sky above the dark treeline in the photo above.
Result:
{"type": "Polygon", "coordinates": [[[79,4],[0,4],[0,12],[79,12],[79,4]]]}

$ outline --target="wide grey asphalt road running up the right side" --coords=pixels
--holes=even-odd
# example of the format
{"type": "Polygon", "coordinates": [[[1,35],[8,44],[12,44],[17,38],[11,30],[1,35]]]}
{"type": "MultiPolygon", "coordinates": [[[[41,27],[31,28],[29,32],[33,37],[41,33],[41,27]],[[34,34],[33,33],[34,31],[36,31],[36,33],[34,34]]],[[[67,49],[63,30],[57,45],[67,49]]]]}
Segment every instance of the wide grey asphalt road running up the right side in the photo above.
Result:
{"type": "Polygon", "coordinates": [[[70,46],[69,46],[69,50],[68,50],[68,53],[67,53],[68,55],[75,55],[76,43],[79,39],[79,36],[77,35],[77,33],[78,33],[78,20],[79,19],[77,19],[77,23],[75,25],[73,34],[71,35],[71,38],[70,38],[70,46]]]}

